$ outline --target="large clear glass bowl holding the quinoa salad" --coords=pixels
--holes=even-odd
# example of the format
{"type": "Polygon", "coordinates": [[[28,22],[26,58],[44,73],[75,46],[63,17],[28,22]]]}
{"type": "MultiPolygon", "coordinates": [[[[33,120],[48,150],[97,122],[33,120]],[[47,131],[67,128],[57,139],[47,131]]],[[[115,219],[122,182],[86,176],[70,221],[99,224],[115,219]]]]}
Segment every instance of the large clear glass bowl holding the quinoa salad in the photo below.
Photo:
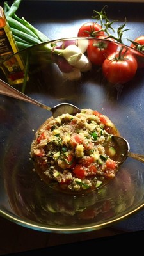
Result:
{"type": "MultiPolygon", "coordinates": [[[[69,102],[80,109],[90,108],[103,113],[129,141],[131,151],[143,154],[142,53],[99,38],[64,38],[29,47],[13,56],[18,65],[22,63],[20,70],[25,74],[17,76],[17,81],[22,79],[23,83],[14,83],[13,87],[48,106],[69,102]],[[77,77],[69,76],[72,70],[64,72],[58,51],[65,45],[78,44],[86,56],[90,42],[115,44],[118,49],[123,47],[129,51],[139,65],[133,79],[124,84],[111,84],[102,74],[102,67],[93,64],[88,70],[80,70],[77,77]],[[52,47],[56,47],[56,55],[52,47]]],[[[74,52],[69,57],[72,57],[70,61],[76,61],[74,52]]],[[[13,72],[4,68],[8,60],[1,62],[1,77],[10,83],[9,74],[13,72]]],[[[19,68],[15,72],[18,71],[19,68]]],[[[90,193],[70,195],[49,188],[33,172],[29,152],[36,130],[52,115],[51,111],[4,95],[0,95],[0,99],[1,216],[35,230],[74,233],[114,225],[143,209],[144,165],[130,157],[120,166],[115,179],[90,193]]]]}

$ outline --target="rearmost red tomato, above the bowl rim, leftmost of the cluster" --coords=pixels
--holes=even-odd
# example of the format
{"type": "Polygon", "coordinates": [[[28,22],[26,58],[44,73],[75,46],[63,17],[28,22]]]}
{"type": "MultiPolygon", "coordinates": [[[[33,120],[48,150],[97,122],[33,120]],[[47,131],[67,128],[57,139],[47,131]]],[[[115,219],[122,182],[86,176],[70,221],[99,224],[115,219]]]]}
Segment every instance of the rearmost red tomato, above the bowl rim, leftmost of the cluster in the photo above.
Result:
{"type": "Polygon", "coordinates": [[[100,31],[101,29],[102,27],[95,22],[86,22],[81,26],[81,28],[79,28],[77,36],[97,37],[100,35],[104,35],[104,31],[100,31]]]}

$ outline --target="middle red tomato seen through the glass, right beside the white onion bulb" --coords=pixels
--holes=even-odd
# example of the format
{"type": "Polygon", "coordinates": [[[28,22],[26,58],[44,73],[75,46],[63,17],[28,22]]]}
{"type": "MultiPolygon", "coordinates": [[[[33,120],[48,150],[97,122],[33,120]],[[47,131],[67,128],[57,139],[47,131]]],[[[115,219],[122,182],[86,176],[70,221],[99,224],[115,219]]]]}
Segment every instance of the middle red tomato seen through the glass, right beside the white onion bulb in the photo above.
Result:
{"type": "MultiPolygon", "coordinates": [[[[106,36],[99,36],[100,39],[106,38],[106,36]]],[[[94,65],[99,65],[101,66],[104,60],[113,52],[116,52],[117,50],[117,44],[114,43],[115,40],[113,38],[108,38],[108,40],[90,40],[88,49],[87,49],[87,54],[89,60],[94,64],[94,65]],[[111,41],[111,42],[109,42],[111,41]]]]}

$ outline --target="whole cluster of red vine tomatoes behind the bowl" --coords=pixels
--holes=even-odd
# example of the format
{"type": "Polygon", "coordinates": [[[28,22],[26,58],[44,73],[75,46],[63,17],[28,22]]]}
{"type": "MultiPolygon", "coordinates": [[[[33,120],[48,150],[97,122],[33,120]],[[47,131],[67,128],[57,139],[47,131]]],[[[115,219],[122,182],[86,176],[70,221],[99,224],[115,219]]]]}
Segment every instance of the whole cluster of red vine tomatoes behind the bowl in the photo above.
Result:
{"type": "MultiPolygon", "coordinates": [[[[139,67],[136,54],[132,53],[130,47],[118,44],[113,36],[106,35],[100,24],[86,22],[79,28],[77,36],[93,37],[93,40],[90,40],[88,45],[87,56],[93,65],[102,67],[104,77],[109,83],[124,84],[135,76],[139,67]],[[108,43],[108,41],[110,42],[108,43]]],[[[134,41],[131,41],[130,46],[143,54],[143,45],[144,36],[139,36],[134,41]]]]}

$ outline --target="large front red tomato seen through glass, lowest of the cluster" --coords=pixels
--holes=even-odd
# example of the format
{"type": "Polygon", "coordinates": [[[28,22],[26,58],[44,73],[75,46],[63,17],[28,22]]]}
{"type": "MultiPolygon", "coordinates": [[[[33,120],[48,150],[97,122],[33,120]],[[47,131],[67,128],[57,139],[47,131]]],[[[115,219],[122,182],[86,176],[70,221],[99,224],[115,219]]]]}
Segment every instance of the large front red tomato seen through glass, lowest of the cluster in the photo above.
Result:
{"type": "Polygon", "coordinates": [[[138,64],[132,54],[126,54],[121,60],[116,60],[114,54],[109,56],[102,65],[106,79],[112,84],[124,84],[136,74],[138,64]]]}

